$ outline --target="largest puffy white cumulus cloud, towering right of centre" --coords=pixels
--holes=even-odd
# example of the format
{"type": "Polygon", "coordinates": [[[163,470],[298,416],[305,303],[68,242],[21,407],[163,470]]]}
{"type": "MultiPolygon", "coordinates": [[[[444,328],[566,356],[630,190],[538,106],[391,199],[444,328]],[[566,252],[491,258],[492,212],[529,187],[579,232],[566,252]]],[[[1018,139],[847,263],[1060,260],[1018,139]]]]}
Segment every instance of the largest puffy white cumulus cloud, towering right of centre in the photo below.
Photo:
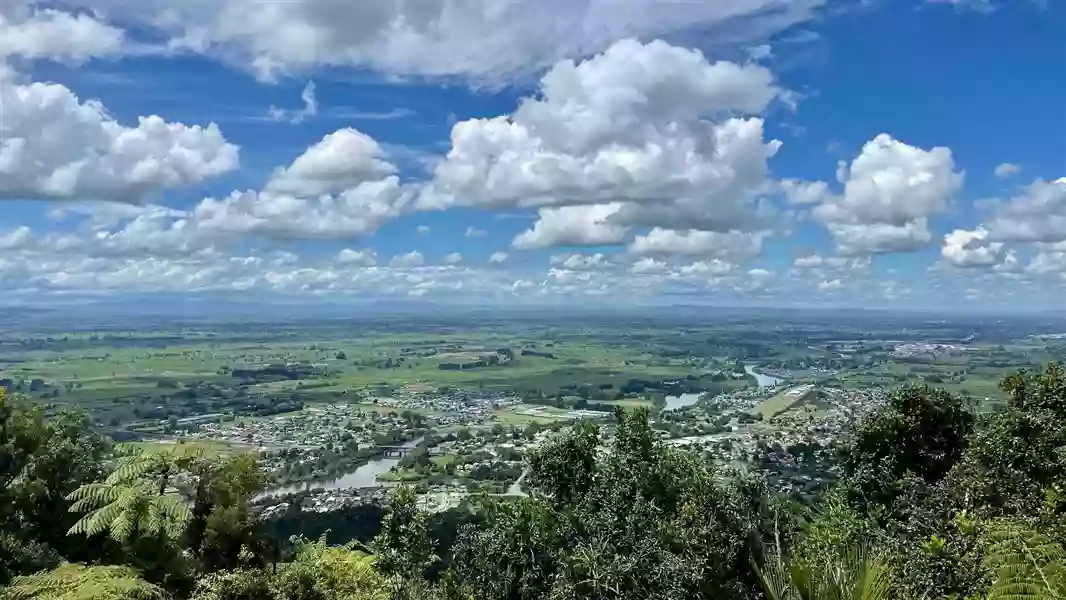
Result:
{"type": "Polygon", "coordinates": [[[780,144],[760,118],[707,117],[759,113],[779,93],[761,66],[624,39],[556,64],[514,114],[456,124],[420,206],[610,206],[608,225],[736,228],[780,144]]]}

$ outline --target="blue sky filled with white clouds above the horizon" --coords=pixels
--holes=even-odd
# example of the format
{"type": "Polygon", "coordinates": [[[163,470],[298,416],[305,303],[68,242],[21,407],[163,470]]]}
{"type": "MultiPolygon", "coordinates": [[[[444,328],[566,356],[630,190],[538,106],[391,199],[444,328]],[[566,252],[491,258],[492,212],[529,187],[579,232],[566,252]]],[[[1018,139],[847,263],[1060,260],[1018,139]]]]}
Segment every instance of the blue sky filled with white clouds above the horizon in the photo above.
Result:
{"type": "Polygon", "coordinates": [[[1055,0],[0,5],[5,302],[1055,308],[1055,0]]]}

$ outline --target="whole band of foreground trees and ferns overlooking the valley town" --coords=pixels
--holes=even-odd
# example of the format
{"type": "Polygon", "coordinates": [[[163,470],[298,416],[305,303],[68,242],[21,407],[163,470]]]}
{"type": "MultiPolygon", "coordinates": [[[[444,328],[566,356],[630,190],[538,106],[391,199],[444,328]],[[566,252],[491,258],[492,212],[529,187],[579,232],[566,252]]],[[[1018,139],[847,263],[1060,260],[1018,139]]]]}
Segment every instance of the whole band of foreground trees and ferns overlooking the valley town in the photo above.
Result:
{"type": "Polygon", "coordinates": [[[370,544],[282,552],[251,505],[254,458],[138,453],[103,468],[109,440],[84,417],[2,398],[0,596],[1063,598],[1066,373],[1001,387],[994,415],[894,391],[840,441],[841,480],[806,504],[619,410],[531,453],[529,498],[482,499],[449,556],[405,489],[370,544]]]}

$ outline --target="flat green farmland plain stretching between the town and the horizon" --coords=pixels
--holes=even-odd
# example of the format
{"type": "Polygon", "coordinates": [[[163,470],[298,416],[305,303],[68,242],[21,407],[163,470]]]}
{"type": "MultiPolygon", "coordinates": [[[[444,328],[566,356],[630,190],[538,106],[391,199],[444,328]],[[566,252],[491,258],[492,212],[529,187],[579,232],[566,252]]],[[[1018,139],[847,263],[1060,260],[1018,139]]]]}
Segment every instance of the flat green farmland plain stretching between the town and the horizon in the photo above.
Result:
{"type": "MultiPolygon", "coordinates": [[[[785,373],[793,384],[893,388],[928,383],[995,403],[1003,400],[998,385],[1004,375],[1066,358],[1066,340],[1032,337],[1051,327],[1044,322],[676,312],[173,327],[159,322],[45,333],[9,327],[0,335],[0,380],[48,405],[87,409],[109,431],[139,425],[165,433],[167,420],[200,415],[256,418],[308,403],[372,404],[375,398],[454,390],[650,406],[652,398],[671,391],[732,387],[712,377],[743,364],[785,373]],[[976,342],[963,341],[973,335],[976,342]],[[893,353],[898,343],[926,341],[965,351],[893,353]],[[500,364],[448,368],[494,353],[500,364]],[[298,373],[259,376],[266,366],[281,366],[281,371],[297,366],[291,370],[298,373]],[[669,383],[674,387],[667,390],[669,383]]],[[[765,415],[776,413],[775,402],[785,399],[768,399],[765,415]]],[[[507,421],[524,418],[504,412],[501,419],[507,421]]]]}

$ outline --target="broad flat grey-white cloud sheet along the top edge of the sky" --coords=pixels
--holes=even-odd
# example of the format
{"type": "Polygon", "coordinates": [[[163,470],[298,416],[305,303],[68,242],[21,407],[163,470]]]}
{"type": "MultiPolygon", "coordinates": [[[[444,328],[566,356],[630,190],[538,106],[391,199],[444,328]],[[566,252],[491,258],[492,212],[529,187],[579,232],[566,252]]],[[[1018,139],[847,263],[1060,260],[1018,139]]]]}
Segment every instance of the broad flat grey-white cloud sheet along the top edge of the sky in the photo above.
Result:
{"type": "Polygon", "coordinates": [[[812,18],[821,0],[59,0],[107,11],[263,80],[317,67],[495,81],[604,49],[626,36],[713,28],[758,43],[812,18]]]}

